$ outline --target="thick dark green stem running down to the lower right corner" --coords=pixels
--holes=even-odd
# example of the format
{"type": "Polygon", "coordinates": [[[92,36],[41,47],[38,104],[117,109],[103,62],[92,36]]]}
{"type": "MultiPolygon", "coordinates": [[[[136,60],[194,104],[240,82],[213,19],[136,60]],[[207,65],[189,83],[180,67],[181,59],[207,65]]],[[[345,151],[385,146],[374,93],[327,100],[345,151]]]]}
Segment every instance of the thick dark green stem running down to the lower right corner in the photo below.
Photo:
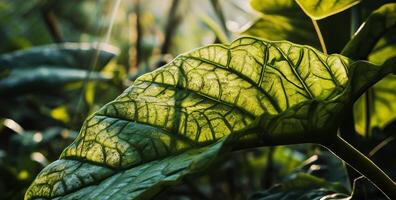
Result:
{"type": "Polygon", "coordinates": [[[324,146],[369,179],[386,197],[396,199],[395,182],[347,141],[337,136],[324,146]]]}

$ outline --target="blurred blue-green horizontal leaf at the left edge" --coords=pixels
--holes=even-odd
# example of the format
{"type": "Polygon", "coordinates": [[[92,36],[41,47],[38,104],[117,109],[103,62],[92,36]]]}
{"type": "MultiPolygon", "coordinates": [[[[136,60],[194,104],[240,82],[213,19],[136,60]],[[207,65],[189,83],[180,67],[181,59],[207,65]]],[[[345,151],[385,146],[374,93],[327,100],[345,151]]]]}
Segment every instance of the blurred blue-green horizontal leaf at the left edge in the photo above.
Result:
{"type": "Polygon", "coordinates": [[[95,62],[97,68],[103,68],[116,52],[114,47],[104,44],[66,43],[1,55],[0,94],[10,96],[45,91],[87,77],[108,80],[109,77],[97,72],[88,76],[89,69],[95,62]]]}

